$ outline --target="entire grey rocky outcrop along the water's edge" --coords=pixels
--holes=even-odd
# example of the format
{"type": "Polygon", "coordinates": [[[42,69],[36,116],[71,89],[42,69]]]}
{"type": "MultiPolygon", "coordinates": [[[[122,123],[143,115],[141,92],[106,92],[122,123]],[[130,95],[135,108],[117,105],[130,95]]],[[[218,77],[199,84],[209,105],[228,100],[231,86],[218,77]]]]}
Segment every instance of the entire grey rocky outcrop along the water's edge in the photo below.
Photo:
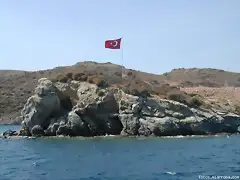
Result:
{"type": "Polygon", "coordinates": [[[72,81],[39,80],[22,110],[21,135],[172,136],[236,133],[240,116],[72,81]]]}

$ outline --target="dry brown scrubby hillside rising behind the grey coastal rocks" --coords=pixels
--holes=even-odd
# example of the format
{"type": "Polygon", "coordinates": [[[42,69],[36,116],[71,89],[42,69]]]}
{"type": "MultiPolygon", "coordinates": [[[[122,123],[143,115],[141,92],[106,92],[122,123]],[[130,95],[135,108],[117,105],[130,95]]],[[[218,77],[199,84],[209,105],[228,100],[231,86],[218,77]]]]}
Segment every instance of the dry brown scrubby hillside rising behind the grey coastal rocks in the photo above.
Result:
{"type": "MultiPolygon", "coordinates": [[[[226,88],[226,86],[240,87],[240,73],[193,68],[174,69],[169,73],[156,75],[126,69],[112,63],[80,62],[73,66],[56,67],[36,72],[1,70],[0,123],[12,122],[20,115],[27,98],[33,94],[37,80],[42,77],[61,82],[75,79],[98,85],[103,85],[104,82],[104,85],[123,88],[130,94],[141,94],[143,96],[151,94],[161,98],[179,100],[183,103],[191,101],[191,97],[194,96],[193,93],[200,94],[198,98],[210,103],[211,106],[214,106],[215,103],[209,101],[209,96],[202,89],[203,87],[215,88],[214,98],[218,101],[218,104],[224,103],[226,100],[230,101],[227,110],[234,110],[235,106],[239,104],[238,99],[236,99],[240,95],[239,88],[234,89],[234,96],[230,91],[225,93],[224,96],[218,92],[224,93],[223,88],[226,88]],[[196,88],[199,91],[196,91],[196,88]],[[225,99],[222,100],[223,98],[225,99]]],[[[218,105],[216,108],[224,107],[218,105]]]]}

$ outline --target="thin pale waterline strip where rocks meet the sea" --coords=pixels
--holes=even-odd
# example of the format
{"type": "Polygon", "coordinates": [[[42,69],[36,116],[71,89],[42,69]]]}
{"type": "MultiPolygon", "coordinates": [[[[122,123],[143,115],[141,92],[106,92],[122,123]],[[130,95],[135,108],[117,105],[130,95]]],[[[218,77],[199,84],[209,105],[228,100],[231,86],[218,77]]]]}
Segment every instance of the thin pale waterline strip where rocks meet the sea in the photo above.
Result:
{"type": "Polygon", "coordinates": [[[121,135],[105,135],[105,136],[92,136],[92,137],[84,137],[84,136],[42,136],[42,137],[34,137],[34,136],[7,136],[4,137],[0,135],[0,139],[12,139],[12,140],[18,140],[18,139],[78,139],[78,140],[91,140],[91,139],[188,139],[188,138],[211,138],[211,137],[230,137],[230,136],[239,136],[239,133],[218,133],[214,135],[178,135],[178,136],[121,136],[121,135]]]}

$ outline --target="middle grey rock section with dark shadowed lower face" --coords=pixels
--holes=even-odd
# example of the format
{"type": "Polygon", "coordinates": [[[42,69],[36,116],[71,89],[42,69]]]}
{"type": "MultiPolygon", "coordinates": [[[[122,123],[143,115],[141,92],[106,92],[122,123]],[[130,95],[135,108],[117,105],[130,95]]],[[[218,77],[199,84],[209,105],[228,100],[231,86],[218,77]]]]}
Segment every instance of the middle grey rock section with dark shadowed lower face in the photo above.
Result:
{"type": "Polygon", "coordinates": [[[109,89],[81,82],[78,88],[78,104],[73,108],[92,136],[119,134],[122,124],[118,119],[118,102],[109,89]]]}

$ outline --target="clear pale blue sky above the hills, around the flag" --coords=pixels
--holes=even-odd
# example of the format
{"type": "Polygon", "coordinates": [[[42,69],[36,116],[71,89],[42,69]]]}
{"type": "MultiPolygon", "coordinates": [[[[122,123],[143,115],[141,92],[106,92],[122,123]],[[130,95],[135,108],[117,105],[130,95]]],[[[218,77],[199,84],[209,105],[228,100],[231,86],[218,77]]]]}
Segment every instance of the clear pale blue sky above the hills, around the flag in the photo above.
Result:
{"type": "Polygon", "coordinates": [[[239,0],[1,0],[0,69],[96,61],[240,72],[239,10],[239,0]],[[120,37],[121,50],[105,49],[120,37]]]}

